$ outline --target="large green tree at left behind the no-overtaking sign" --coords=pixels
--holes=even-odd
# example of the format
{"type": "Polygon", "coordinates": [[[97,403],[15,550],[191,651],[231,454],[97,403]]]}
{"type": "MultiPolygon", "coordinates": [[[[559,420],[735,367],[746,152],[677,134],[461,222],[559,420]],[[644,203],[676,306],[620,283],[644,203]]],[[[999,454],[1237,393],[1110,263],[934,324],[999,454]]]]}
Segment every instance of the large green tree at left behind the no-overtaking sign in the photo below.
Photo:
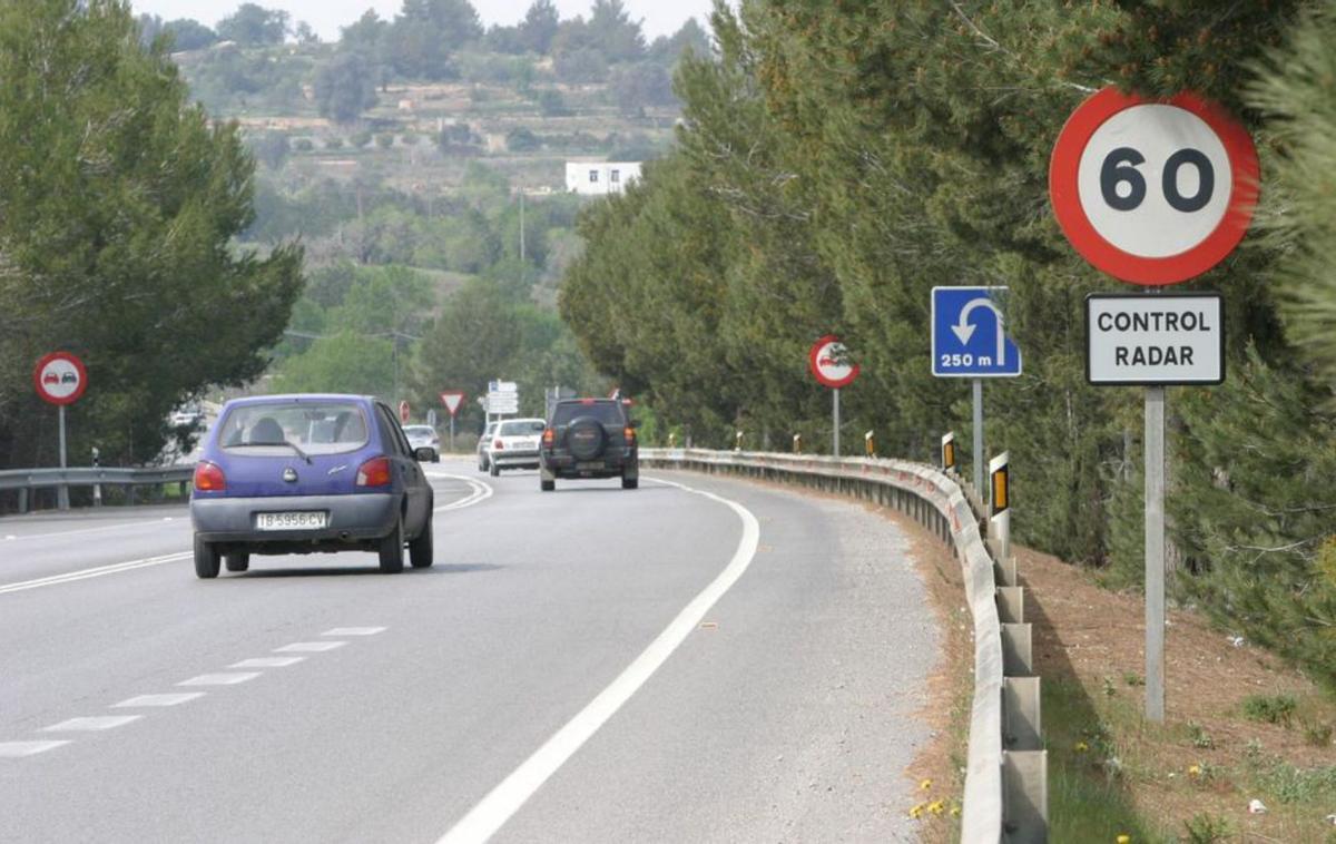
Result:
{"type": "Polygon", "coordinates": [[[299,248],[232,251],[254,164],[235,124],[187,104],[126,4],[0,4],[0,466],[53,465],[32,363],[88,365],[71,454],[154,458],[164,418],[267,365],[301,288],[299,248]]]}

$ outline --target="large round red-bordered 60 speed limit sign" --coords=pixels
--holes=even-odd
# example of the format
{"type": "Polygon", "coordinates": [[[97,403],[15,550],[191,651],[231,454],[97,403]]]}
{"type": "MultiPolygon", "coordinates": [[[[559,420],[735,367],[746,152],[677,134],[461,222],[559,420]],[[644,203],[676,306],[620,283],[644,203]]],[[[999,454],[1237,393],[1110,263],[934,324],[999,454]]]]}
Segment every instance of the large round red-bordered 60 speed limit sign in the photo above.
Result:
{"type": "Polygon", "coordinates": [[[1252,138],[1214,103],[1105,88],[1058,135],[1049,198],[1062,232],[1096,268],[1161,286],[1201,275],[1238,246],[1259,178],[1252,138]]]}

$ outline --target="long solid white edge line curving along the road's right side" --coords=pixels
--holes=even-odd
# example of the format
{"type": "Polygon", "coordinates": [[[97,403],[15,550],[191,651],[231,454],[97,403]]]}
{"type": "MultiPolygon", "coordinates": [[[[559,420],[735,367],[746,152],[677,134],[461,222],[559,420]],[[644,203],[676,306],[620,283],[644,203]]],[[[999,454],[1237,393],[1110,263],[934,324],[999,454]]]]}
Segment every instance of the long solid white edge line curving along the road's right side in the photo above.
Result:
{"type": "Polygon", "coordinates": [[[441,836],[437,844],[474,844],[489,837],[514,816],[544,783],[566,763],[576,751],[589,740],[599,728],[608,722],[623,704],[631,700],[640,686],[668,661],[673,650],[691,636],[705,613],[719,598],[747,572],[760,542],[760,523],[751,510],[743,505],[701,490],[656,481],[684,491],[717,501],[733,510],[743,522],[743,536],[737,550],[724,570],[688,604],[676,618],[659,634],[636,660],[617,676],[612,684],[599,693],[565,726],[558,729],[533,756],[526,759],[514,772],[493,788],[454,827],[441,836]]]}

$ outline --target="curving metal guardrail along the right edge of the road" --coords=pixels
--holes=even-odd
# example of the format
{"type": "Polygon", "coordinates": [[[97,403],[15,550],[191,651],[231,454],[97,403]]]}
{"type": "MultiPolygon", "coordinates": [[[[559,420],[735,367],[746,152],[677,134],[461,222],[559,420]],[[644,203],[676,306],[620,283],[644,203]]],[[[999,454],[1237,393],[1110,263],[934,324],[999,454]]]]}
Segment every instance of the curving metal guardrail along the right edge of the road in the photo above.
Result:
{"type": "Polygon", "coordinates": [[[1047,840],[1047,751],[1041,740],[1025,590],[1015,560],[981,533],[974,490],[933,466],[876,458],[641,449],[648,466],[729,471],[894,506],[954,546],[974,617],[974,701],[961,816],[966,844],[1047,840]],[[1001,585],[999,585],[1001,584],[1001,585]]]}

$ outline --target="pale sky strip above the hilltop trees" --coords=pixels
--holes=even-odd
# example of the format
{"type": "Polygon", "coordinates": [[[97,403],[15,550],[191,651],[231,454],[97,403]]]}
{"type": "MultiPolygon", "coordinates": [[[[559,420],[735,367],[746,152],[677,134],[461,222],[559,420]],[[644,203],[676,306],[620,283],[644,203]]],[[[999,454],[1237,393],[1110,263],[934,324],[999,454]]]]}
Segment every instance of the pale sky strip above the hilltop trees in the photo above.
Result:
{"type": "MultiPolygon", "coordinates": [[[[394,17],[402,0],[253,0],[267,9],[283,9],[293,23],[305,20],[315,28],[321,40],[338,40],[339,27],[346,27],[369,8],[385,19],[394,17]]],[[[243,0],[132,0],[136,13],[159,15],[163,20],[194,17],[212,27],[218,19],[231,15],[243,0]]],[[[593,0],[554,0],[561,19],[589,16],[593,0]]],[[[709,29],[711,0],[623,0],[632,20],[641,20],[645,37],[672,35],[688,17],[709,29]]],[[[518,23],[533,0],[473,0],[473,8],[485,25],[518,23]]]]}

